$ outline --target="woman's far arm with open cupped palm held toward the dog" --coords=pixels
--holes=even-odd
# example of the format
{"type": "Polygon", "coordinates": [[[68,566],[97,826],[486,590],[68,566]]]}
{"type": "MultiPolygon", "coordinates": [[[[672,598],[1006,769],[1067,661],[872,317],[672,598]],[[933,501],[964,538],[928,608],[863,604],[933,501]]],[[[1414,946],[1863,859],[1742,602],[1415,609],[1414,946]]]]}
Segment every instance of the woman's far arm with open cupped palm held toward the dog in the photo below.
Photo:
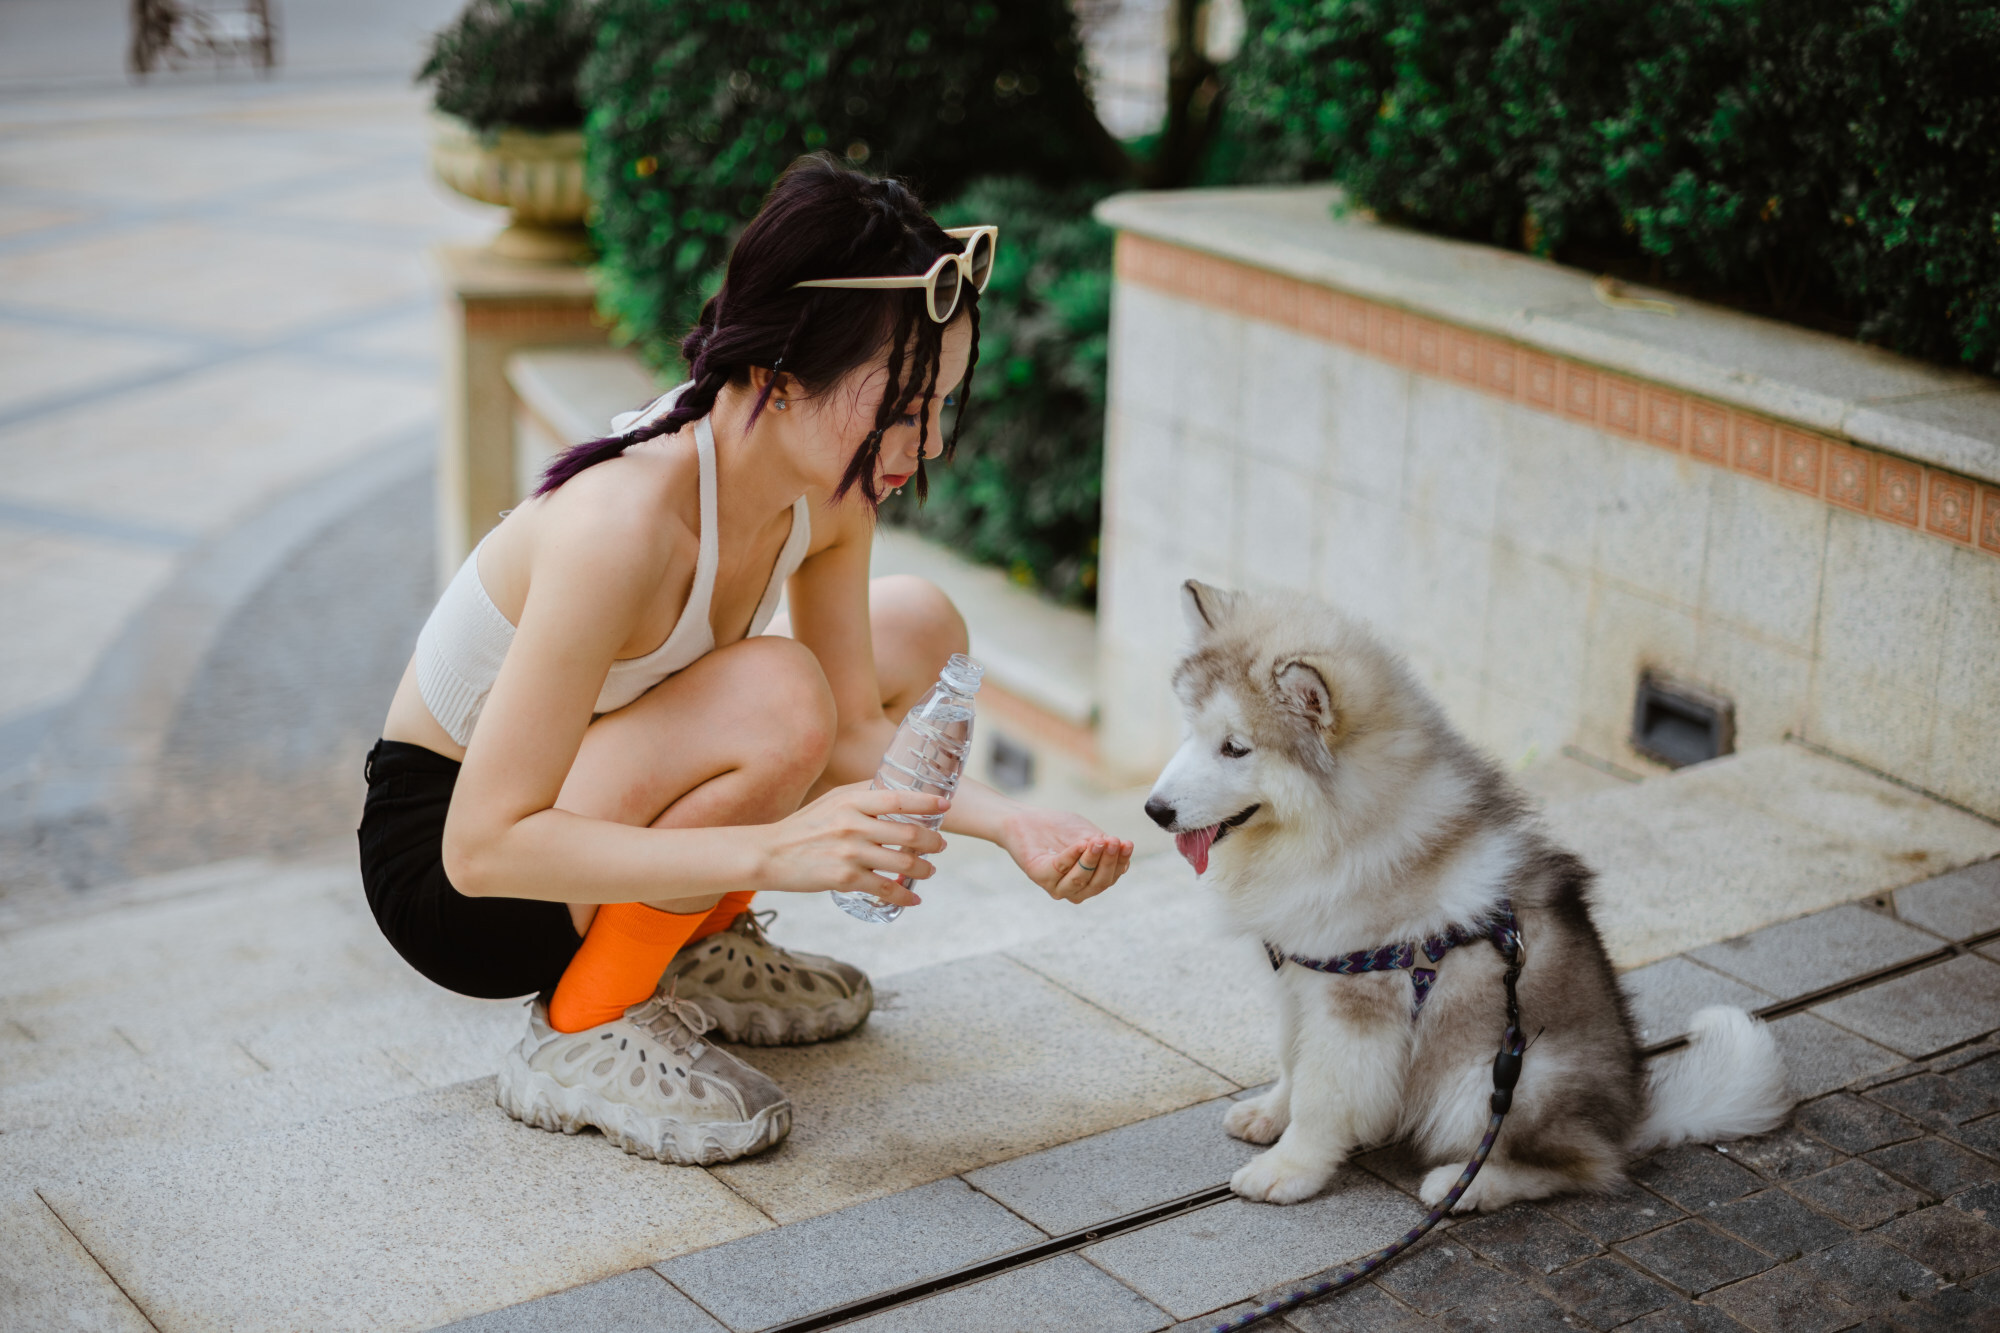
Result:
{"type": "MultiPolygon", "coordinates": [[[[834,540],[798,568],[788,598],[792,636],[820,658],[840,719],[824,785],[870,781],[896,737],[882,713],[868,618],[874,518],[860,504],[838,512],[834,540]]],[[[960,781],[944,829],[1004,847],[1050,897],[1074,903],[1104,893],[1132,865],[1132,845],[1088,819],[1024,805],[972,779],[960,781]]]]}

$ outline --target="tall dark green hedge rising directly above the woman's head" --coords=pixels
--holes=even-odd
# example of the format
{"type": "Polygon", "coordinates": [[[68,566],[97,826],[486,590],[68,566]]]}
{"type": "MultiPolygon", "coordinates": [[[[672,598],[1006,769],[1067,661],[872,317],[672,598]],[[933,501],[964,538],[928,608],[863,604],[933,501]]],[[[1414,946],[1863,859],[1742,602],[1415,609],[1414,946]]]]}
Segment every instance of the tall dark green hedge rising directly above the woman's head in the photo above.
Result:
{"type": "Polygon", "coordinates": [[[730,242],[802,152],[830,148],[932,202],[978,176],[1066,186],[1118,146],[1064,0],[604,0],[584,66],[602,304],[656,366],[730,242]]]}

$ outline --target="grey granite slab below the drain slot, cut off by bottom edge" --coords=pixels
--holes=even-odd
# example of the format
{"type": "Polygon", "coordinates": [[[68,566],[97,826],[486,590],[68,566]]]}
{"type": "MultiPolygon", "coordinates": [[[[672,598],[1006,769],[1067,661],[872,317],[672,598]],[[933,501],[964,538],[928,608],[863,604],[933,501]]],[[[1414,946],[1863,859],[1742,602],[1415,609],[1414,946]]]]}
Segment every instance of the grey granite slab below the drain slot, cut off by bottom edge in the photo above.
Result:
{"type": "Polygon", "coordinates": [[[1156,1333],[1174,1317],[1076,1255],[842,1325],[852,1333],[1156,1333]]]}

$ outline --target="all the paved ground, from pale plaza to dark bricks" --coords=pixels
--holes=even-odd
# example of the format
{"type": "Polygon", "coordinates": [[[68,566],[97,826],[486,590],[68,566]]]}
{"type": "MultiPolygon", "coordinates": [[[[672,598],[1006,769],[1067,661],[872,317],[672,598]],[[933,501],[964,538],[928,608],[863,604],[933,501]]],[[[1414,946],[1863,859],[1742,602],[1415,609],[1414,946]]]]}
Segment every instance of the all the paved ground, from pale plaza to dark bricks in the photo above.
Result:
{"type": "MultiPolygon", "coordinates": [[[[20,4],[0,78],[24,18],[84,34],[42,72],[100,58],[104,12],[20,4]]],[[[764,1159],[662,1169],[492,1105],[518,1007],[416,979],[316,851],[350,837],[430,600],[420,252],[490,226],[424,182],[400,76],[0,90],[0,1327],[742,1333],[1246,1153],[1216,1119],[1272,1077],[1260,967],[1172,857],[1074,911],[976,845],[890,931],[784,905],[780,939],[864,963],[882,1003],[752,1055],[800,1107],[764,1159]]],[[[1528,777],[1604,871],[1648,1039],[1796,1003],[1776,1029],[1810,1101],[1624,1201],[1456,1225],[1294,1327],[1982,1327],[2000,959],[1946,941],[2000,929],[2000,883],[1938,875],[2000,831],[1798,749],[1528,777]]],[[[1136,821],[1072,773],[1048,791],[1136,821]]],[[[1410,1223],[1406,1167],[1362,1167],[866,1327],[1206,1327],[1410,1223]]]]}

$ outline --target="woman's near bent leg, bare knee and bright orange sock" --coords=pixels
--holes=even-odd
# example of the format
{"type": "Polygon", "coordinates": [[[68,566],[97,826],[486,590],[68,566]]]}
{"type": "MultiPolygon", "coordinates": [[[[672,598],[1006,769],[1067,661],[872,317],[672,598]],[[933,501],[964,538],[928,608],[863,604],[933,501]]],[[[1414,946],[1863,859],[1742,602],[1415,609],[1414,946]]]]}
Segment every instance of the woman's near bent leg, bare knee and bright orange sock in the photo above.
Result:
{"type": "MultiPolygon", "coordinates": [[[[782,638],[730,644],[592,723],[556,805],[658,829],[772,823],[824,769],[832,713],[810,652],[782,638]]],[[[722,897],[572,903],[584,945],[550,1003],[554,1027],[594,1027],[652,995],[722,897]]]]}

